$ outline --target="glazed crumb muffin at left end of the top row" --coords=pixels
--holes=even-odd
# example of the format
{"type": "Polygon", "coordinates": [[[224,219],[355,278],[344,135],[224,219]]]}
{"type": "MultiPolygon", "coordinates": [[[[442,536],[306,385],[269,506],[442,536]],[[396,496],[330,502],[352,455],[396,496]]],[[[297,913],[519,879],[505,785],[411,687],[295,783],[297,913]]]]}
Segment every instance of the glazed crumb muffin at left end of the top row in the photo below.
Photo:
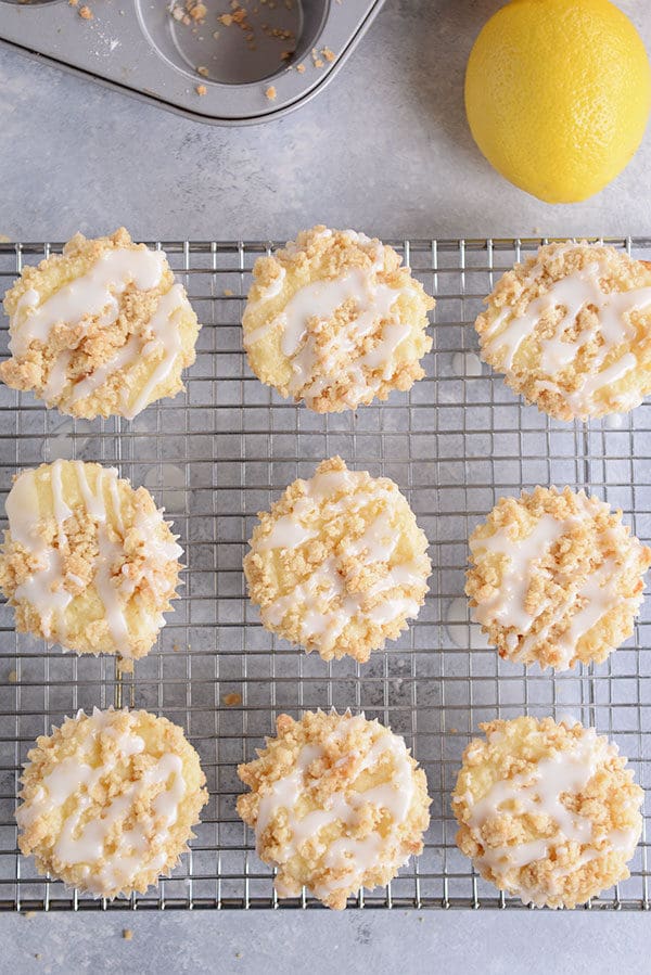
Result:
{"type": "Polygon", "coordinates": [[[72,416],[133,419],[183,388],[196,316],[163,251],[123,228],[27,267],[4,296],[12,358],[0,377],[72,416]]]}

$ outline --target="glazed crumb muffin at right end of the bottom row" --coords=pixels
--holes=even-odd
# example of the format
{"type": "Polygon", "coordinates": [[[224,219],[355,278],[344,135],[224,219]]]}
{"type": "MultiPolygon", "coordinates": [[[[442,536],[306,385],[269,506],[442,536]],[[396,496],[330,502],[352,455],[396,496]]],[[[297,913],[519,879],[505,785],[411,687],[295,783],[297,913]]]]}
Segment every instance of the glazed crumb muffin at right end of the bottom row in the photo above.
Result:
{"type": "Polygon", "coordinates": [[[574,908],[629,876],[643,792],[617,746],[579,723],[481,726],[452,794],[457,844],[484,880],[537,907],[574,908]]]}

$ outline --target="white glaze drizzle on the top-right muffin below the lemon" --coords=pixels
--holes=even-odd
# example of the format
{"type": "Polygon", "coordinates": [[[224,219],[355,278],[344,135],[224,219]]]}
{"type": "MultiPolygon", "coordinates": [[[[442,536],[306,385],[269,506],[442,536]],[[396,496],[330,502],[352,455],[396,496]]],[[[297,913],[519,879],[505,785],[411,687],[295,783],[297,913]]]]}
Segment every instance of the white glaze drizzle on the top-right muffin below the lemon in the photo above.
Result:
{"type": "MultiPolygon", "coordinates": [[[[572,248],[569,246],[563,247],[556,256],[572,248]]],[[[540,265],[535,265],[523,283],[523,290],[533,284],[540,272],[540,265]]],[[[554,308],[564,308],[565,313],[556,324],[553,335],[548,338],[538,337],[541,349],[540,368],[554,379],[560,371],[575,361],[585,345],[600,337],[602,344],[590,361],[590,373],[580,379],[580,386],[575,392],[564,393],[575,411],[589,412],[597,394],[618,382],[638,364],[637,357],[629,351],[602,369],[611,352],[635,334],[628,316],[651,306],[651,287],[638,287],[627,292],[603,292],[600,278],[608,274],[608,268],[596,261],[554,282],[545,294],[531,302],[522,315],[513,316],[512,309],[509,306],[505,307],[486,332],[486,350],[495,354],[502,349],[506,354],[505,367],[510,371],[520,346],[533,335],[540,318],[554,308]],[[589,329],[584,329],[577,339],[563,341],[563,334],[573,326],[582,309],[588,306],[596,309],[596,323],[589,329]]],[[[541,385],[558,392],[554,383],[541,385]]],[[[634,406],[629,399],[630,397],[626,397],[625,394],[620,396],[618,408],[627,409],[634,406]]]]}

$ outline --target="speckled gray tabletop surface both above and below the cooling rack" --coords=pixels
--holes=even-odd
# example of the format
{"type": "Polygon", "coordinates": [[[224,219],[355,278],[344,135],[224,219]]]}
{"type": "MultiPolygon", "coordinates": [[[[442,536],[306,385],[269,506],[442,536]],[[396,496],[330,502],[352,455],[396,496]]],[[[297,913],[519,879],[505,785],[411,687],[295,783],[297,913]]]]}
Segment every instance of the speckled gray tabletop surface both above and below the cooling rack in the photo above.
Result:
{"type": "MultiPolygon", "coordinates": [[[[242,130],[189,123],[0,51],[0,234],[62,240],[124,222],[145,239],[284,238],[317,220],[386,236],[651,234],[649,138],[605,192],[573,207],[510,188],[475,151],[463,68],[500,5],[387,0],[326,92],[242,130]]],[[[620,5],[649,47],[648,4],[620,5]]],[[[64,3],[61,14],[74,17],[64,3]]],[[[93,29],[75,26],[80,42],[93,29]]],[[[649,971],[648,931],[643,915],[586,912],[10,915],[0,970],[634,975],[649,971]]]]}

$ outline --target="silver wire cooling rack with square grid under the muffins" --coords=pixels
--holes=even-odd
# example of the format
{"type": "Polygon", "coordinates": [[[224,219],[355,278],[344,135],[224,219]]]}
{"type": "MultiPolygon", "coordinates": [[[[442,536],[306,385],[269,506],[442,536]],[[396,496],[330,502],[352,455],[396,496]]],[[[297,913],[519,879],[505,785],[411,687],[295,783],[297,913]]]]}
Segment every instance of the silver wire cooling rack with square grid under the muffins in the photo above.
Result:
{"type": "MultiPolygon", "coordinates": [[[[281,711],[363,709],[404,734],[426,771],[432,825],[422,856],[357,907],[515,907],[472,871],[455,846],[449,794],[461,752],[481,721],[523,711],[571,713],[614,737],[651,786],[651,599],[635,637],[595,669],[552,678],[498,658],[468,623],[462,599],[467,539],[501,495],[540,483],[589,488],[651,538],[651,402],[621,425],[557,423],[516,399],[480,367],[472,322],[496,275],[538,246],[522,241],[396,241],[437,298],[427,377],[409,395],[358,413],[318,416],[282,401],[248,371],[240,318],[255,258],[266,243],[163,243],[204,329],[188,389],[132,423],[72,421],[0,386],[0,490],[20,467],[58,457],[115,464],[167,509],[188,570],[176,612],[131,678],[114,660],[48,650],[13,630],[0,606],[0,908],[316,907],[278,903],[271,871],[239,821],[238,762],[254,757],[281,711]],[[478,373],[478,374],[477,374],[478,373]],[[431,541],[431,593],[418,621],[370,663],[327,664],[267,633],[247,603],[241,572],[256,512],[326,457],[393,477],[431,541]],[[473,649],[469,652],[468,647],[473,649]],[[192,852],[157,889],[106,903],[38,877],[17,852],[13,820],[21,762],[38,734],[93,705],[129,704],[183,726],[210,793],[192,852]]],[[[651,257],[651,240],[610,241],[651,257]]],[[[156,244],[155,246],[158,246],[156,244]]],[[[0,285],[23,261],[59,244],[0,245],[0,285]]],[[[7,321],[3,322],[7,343],[7,321]]],[[[648,804],[649,805],[649,804],[648,804]]],[[[648,809],[651,814],[651,809],[648,809]]],[[[648,829],[648,828],[647,828],[648,829]]],[[[631,877],[595,908],[649,908],[648,842],[631,877]]]]}

